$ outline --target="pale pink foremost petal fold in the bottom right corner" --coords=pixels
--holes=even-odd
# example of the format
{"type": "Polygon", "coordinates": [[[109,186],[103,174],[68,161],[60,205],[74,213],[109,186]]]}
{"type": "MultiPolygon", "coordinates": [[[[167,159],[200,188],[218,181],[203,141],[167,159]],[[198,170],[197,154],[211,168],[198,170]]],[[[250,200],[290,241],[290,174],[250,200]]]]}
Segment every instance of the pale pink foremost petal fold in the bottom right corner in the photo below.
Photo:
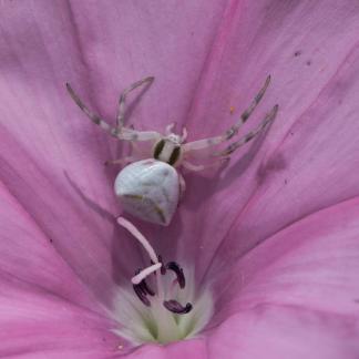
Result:
{"type": "Polygon", "coordinates": [[[209,358],[356,359],[358,320],[263,305],[229,318],[208,340],[209,358]]]}

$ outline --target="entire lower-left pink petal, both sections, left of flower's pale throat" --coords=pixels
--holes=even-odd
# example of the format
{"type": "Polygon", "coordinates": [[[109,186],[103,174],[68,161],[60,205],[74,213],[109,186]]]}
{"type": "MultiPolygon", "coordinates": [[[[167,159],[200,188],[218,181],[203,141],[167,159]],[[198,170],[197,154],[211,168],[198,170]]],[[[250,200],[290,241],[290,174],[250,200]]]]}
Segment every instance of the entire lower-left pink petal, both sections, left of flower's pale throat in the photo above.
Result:
{"type": "Polygon", "coordinates": [[[0,356],[102,358],[116,324],[37,223],[0,186],[0,356]]]}

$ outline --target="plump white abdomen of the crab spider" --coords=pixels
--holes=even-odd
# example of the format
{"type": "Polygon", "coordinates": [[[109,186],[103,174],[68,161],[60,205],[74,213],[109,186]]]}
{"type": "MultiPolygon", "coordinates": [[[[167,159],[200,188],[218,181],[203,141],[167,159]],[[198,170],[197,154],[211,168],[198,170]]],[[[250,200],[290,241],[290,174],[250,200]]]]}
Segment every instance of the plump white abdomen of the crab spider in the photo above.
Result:
{"type": "Polygon", "coordinates": [[[165,162],[143,160],[125,166],[114,183],[123,209],[141,219],[167,226],[180,199],[180,177],[165,162]]]}

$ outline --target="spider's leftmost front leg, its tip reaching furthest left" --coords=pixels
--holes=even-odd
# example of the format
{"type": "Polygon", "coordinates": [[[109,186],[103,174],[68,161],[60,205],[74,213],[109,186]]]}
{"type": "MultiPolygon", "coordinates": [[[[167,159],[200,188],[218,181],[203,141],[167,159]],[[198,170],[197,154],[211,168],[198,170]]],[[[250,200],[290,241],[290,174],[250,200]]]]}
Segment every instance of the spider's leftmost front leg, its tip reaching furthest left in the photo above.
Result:
{"type": "Polygon", "coordinates": [[[110,133],[112,136],[119,140],[126,141],[150,141],[157,140],[161,134],[155,131],[135,131],[132,129],[115,129],[112,127],[109,123],[106,123],[101,116],[93,113],[79,98],[79,95],[72,90],[69,83],[66,83],[66,89],[72,98],[72,100],[78,104],[78,106],[88,115],[88,117],[96,125],[99,125],[102,130],[110,133]]]}

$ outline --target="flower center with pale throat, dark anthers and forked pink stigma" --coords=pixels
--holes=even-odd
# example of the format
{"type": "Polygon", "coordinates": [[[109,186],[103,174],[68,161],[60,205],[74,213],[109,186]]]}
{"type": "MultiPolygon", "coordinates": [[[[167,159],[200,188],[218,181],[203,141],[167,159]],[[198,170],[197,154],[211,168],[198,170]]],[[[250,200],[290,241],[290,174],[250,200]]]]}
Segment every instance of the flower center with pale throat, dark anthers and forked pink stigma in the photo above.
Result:
{"type": "Polygon", "coordinates": [[[176,261],[163,263],[148,240],[126,219],[117,223],[144,247],[151,266],[137,269],[132,288],[120,288],[115,298],[115,319],[122,328],[114,332],[135,345],[167,343],[193,338],[209,321],[213,299],[207,288],[196,291],[194,271],[176,261]]]}

